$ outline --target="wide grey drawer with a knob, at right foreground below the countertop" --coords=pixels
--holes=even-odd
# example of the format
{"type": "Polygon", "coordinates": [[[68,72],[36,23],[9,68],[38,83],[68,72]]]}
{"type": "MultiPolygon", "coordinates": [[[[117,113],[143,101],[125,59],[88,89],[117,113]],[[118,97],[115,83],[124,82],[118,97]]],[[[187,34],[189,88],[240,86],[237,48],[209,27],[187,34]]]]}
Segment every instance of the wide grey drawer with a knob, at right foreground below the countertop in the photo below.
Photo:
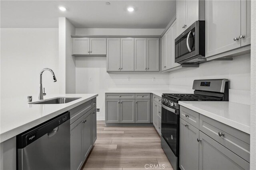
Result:
{"type": "Polygon", "coordinates": [[[200,115],[200,131],[250,162],[250,135],[247,133],[204,115],[200,115]]]}

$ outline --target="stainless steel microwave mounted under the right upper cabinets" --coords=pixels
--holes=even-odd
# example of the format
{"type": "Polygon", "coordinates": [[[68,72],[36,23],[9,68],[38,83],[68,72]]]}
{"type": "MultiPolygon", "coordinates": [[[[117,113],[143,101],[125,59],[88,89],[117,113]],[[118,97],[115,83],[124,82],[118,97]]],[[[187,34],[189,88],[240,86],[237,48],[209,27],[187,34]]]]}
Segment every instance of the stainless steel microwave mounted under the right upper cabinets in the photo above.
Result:
{"type": "Polygon", "coordinates": [[[175,63],[205,63],[205,22],[196,21],[175,39],[175,63]]]}

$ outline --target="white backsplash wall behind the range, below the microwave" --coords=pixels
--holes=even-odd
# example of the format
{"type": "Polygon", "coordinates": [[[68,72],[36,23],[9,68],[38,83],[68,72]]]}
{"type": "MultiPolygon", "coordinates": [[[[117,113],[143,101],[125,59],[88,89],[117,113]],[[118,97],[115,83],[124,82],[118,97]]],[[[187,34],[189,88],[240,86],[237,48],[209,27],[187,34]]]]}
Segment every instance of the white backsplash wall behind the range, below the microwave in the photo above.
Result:
{"type": "Polygon", "coordinates": [[[250,104],[250,54],[233,61],[211,61],[199,68],[170,72],[170,90],[192,93],[193,80],[227,78],[230,80],[229,100],[250,104]]]}

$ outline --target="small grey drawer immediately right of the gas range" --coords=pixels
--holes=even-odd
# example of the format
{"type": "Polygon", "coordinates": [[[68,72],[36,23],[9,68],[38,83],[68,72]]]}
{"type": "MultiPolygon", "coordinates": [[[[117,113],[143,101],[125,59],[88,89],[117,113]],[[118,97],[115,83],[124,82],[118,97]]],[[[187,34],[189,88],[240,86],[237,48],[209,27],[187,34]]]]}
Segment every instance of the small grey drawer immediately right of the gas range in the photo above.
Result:
{"type": "Polygon", "coordinates": [[[186,107],[180,106],[180,117],[199,129],[199,113],[186,107]]]}

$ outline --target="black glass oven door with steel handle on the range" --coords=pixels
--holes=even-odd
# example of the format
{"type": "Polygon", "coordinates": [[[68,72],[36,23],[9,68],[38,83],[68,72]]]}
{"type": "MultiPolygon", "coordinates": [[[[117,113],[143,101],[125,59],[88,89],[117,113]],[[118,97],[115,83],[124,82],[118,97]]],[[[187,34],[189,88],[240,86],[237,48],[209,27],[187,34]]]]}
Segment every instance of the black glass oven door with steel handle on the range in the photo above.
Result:
{"type": "Polygon", "coordinates": [[[179,155],[180,111],[162,103],[162,137],[176,156],[179,155]]]}

